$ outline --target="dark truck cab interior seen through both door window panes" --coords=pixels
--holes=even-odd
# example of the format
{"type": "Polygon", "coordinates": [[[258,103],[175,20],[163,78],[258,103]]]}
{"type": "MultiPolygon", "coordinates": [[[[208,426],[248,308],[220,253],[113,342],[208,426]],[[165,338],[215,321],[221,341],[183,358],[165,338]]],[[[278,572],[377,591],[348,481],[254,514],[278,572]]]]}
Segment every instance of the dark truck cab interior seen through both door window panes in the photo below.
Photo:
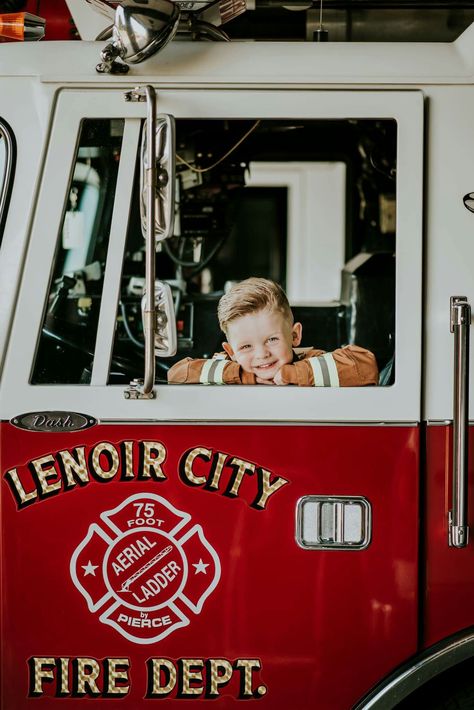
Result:
{"type": "MultiPolygon", "coordinates": [[[[58,196],[64,200],[63,220],[33,384],[90,382],[107,253],[113,248],[123,126],[120,119],[82,122],[70,184],[58,196]]],[[[295,319],[303,324],[304,346],[367,347],[376,355],[380,384],[392,384],[396,161],[395,120],[176,119],[175,227],[173,237],[157,246],[156,278],[173,292],[178,350],[158,358],[157,382],[166,382],[177,360],[221,350],[219,298],[232,282],[263,276],[287,290],[295,319]],[[306,186],[313,211],[299,221],[299,233],[290,228],[294,186],[285,177],[295,170],[319,175],[321,185],[314,191],[311,181],[306,186]],[[332,265],[323,262],[321,247],[318,271],[321,240],[325,253],[333,251],[332,265]],[[314,264],[299,283],[292,269],[305,272],[308,258],[314,264]]],[[[127,383],[142,369],[145,246],[139,200],[137,155],[109,384],[127,383]]]]}

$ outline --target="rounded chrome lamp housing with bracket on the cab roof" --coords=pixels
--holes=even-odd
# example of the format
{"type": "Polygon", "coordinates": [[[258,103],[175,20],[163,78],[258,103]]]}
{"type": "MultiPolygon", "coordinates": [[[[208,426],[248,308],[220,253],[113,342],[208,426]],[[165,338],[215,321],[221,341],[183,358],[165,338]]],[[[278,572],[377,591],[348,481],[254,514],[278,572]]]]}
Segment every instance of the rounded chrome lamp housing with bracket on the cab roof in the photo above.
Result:
{"type": "Polygon", "coordinates": [[[125,74],[129,69],[125,62],[137,64],[156,54],[173,39],[179,16],[172,0],[123,0],[115,10],[112,42],[102,50],[96,70],[125,74]]]}

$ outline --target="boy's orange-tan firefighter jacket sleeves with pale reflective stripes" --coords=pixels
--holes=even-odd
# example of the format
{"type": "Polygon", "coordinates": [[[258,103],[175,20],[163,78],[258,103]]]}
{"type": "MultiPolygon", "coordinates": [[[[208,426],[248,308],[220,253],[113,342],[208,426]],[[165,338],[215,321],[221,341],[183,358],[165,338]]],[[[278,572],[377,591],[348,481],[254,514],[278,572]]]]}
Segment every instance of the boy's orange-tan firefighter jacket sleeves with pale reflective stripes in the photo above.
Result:
{"type": "MultiPolygon", "coordinates": [[[[359,387],[378,384],[374,355],[357,345],[330,353],[309,349],[295,353],[295,360],[281,368],[285,384],[300,387],[359,387]]],[[[242,370],[225,353],[208,360],[180,360],[168,372],[170,384],[254,385],[255,375],[242,370]]]]}

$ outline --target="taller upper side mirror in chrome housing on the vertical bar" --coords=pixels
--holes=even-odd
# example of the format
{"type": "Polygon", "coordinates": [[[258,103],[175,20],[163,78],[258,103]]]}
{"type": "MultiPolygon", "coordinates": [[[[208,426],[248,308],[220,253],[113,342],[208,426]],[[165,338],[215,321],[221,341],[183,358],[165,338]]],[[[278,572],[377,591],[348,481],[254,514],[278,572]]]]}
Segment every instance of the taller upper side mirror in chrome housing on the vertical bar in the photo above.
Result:
{"type": "MultiPolygon", "coordinates": [[[[173,116],[161,114],[156,117],[156,199],[155,240],[173,236],[175,201],[175,121],[173,116]]],[[[146,123],[140,155],[140,216],[142,233],[147,234],[147,170],[148,149],[146,123]]]]}

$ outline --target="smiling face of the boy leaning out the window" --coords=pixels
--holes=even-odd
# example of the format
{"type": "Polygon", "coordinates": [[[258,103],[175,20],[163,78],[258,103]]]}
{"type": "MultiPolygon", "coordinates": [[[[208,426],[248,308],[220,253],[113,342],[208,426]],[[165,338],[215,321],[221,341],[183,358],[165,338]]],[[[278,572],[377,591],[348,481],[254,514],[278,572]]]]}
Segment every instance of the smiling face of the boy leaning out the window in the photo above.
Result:
{"type": "Polygon", "coordinates": [[[260,380],[273,380],[283,365],[293,361],[293,348],[301,342],[301,323],[291,325],[283,313],[264,309],[231,321],[227,355],[260,380]]]}

